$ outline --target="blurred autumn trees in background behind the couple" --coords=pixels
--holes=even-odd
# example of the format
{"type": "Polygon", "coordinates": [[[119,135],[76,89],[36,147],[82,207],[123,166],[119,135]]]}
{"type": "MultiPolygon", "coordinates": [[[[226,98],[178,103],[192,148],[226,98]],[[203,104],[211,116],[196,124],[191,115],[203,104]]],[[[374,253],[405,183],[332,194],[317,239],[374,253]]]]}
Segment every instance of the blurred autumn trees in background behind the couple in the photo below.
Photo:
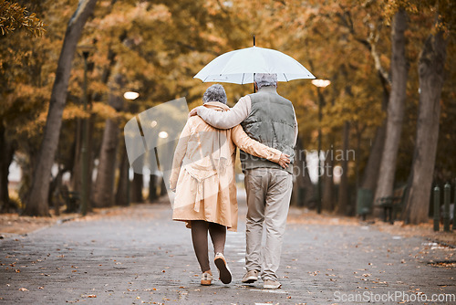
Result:
{"type": "MultiPolygon", "coordinates": [[[[84,58],[75,45],[67,90],[57,89],[61,126],[49,128],[68,22],[85,3],[0,1],[0,16],[17,14],[5,10],[9,5],[34,20],[28,30],[0,23],[5,28],[0,36],[2,211],[26,209],[43,216],[49,206],[81,193],[85,119],[90,205],[156,198],[157,173],[129,179],[124,124],[167,100],[186,97],[190,108],[201,104],[211,84],[192,77],[212,58],[251,47],[253,35],[258,47],[283,51],[317,79],[331,81],[326,88],[308,79],[279,83],[280,94],[294,102],[299,123],[295,205],[319,205],[313,170],[319,130],[324,212],[355,215],[358,189],[379,197],[407,184],[402,216],[424,222],[432,185],[456,178],[451,145],[456,142],[456,5],[451,0],[98,0],[77,39],[79,46],[90,47],[88,110],[82,108],[84,58]],[[130,90],[140,98],[124,99],[130,90]],[[49,145],[55,153],[47,153],[51,163],[45,173],[40,147],[47,134],[58,144],[49,145]],[[12,194],[11,163],[22,171],[20,184],[10,184],[12,194]]],[[[252,92],[251,85],[223,85],[231,105],[252,92]]]]}

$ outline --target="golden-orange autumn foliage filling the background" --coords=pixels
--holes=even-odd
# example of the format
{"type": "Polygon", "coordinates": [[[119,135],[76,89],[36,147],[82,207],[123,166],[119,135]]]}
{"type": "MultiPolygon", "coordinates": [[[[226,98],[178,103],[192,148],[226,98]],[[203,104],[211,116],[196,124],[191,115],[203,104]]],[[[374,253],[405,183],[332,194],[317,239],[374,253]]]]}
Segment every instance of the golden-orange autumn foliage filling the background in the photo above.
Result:
{"type": "MultiPolygon", "coordinates": [[[[5,148],[0,155],[0,203],[3,210],[20,210],[26,205],[57,78],[57,60],[68,21],[77,7],[77,0],[32,1],[27,5],[0,1],[0,145],[5,148]],[[13,160],[21,166],[23,174],[16,204],[8,198],[7,189],[8,166],[13,160]]],[[[110,164],[115,166],[115,179],[108,185],[112,196],[103,204],[114,205],[116,192],[128,183],[119,174],[128,173],[121,171],[126,166],[120,132],[125,122],[142,110],[179,97],[186,97],[190,108],[201,104],[202,93],[211,84],[202,84],[192,77],[212,58],[233,49],[251,47],[255,35],[257,46],[278,49],[301,62],[318,79],[331,80],[325,89],[316,89],[303,79],[279,83],[278,90],[294,102],[299,123],[298,147],[307,152],[316,150],[318,129],[321,129],[324,151],[348,148],[356,152],[356,158],[347,163],[331,161],[325,175],[333,174],[334,167],[341,166],[341,179],[346,179],[346,184],[332,185],[334,181],[325,180],[332,186],[326,190],[331,195],[324,207],[330,212],[355,215],[357,189],[365,187],[375,192],[381,175],[378,164],[382,153],[378,152],[382,152],[382,139],[388,136],[382,129],[394,79],[391,30],[399,9],[407,16],[404,47],[408,75],[393,186],[409,183],[420,124],[420,55],[426,39],[437,33],[446,41],[446,58],[441,59],[444,79],[438,98],[441,110],[436,157],[426,160],[434,166],[433,173],[428,173],[431,184],[424,187],[430,189],[434,184],[451,181],[456,178],[453,158],[456,152],[454,145],[448,145],[456,142],[453,102],[456,8],[451,0],[98,0],[78,41],[79,46],[93,47],[88,56],[89,107],[88,111],[82,110],[84,63],[77,48],[53,160],[54,171],[51,177],[42,177],[50,179],[47,205],[64,202],[57,192],[64,174],[70,177],[67,187],[80,191],[78,152],[82,119],[89,121],[90,171],[103,162],[99,160],[103,137],[111,136],[117,142],[112,152],[116,162],[110,164]],[[140,99],[121,99],[127,90],[140,92],[140,99]],[[113,103],[109,100],[112,96],[120,97],[120,102],[113,103]],[[104,132],[108,121],[115,123],[117,132],[104,132]],[[347,192],[341,192],[340,185],[347,192]],[[340,199],[337,194],[347,197],[340,199]]],[[[252,91],[251,85],[224,87],[231,105],[252,91]]],[[[142,179],[133,184],[141,183],[142,179]]],[[[160,184],[157,186],[160,188],[160,184]]],[[[310,180],[296,181],[296,204],[316,206],[311,192],[298,195],[299,189],[309,187],[314,187],[310,180]]],[[[421,209],[428,216],[426,209],[430,201],[423,200],[426,205],[421,209]]],[[[94,198],[92,204],[98,205],[94,198]]],[[[422,221],[422,218],[418,220],[422,221]]]]}

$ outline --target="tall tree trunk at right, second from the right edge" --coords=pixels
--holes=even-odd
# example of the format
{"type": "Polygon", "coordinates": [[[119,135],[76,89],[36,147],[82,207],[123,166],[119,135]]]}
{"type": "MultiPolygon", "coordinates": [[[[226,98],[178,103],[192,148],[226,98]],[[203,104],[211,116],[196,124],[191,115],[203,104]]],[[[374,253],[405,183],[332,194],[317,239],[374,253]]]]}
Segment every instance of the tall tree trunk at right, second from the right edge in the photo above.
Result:
{"type": "Polygon", "coordinates": [[[407,89],[408,64],[405,57],[406,39],[404,37],[406,29],[407,13],[404,9],[399,8],[398,13],[394,16],[391,33],[391,94],[387,110],[387,134],[381,157],[375,199],[393,193],[407,89]]]}

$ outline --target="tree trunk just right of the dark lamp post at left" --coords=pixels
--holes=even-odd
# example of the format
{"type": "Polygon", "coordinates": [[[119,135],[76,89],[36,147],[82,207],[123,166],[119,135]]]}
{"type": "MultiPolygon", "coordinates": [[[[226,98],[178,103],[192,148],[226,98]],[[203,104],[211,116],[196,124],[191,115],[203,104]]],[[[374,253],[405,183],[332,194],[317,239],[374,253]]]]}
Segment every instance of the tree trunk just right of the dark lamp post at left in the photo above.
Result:
{"type": "MultiPolygon", "coordinates": [[[[109,93],[109,105],[116,110],[121,110],[123,100],[119,96],[119,89],[122,84],[122,76],[114,77],[113,86],[109,93]]],[[[97,207],[113,205],[114,199],[114,177],[116,172],[117,147],[119,144],[118,120],[108,119],[103,131],[100,153],[98,156],[97,180],[92,196],[92,204],[97,207]]]]}

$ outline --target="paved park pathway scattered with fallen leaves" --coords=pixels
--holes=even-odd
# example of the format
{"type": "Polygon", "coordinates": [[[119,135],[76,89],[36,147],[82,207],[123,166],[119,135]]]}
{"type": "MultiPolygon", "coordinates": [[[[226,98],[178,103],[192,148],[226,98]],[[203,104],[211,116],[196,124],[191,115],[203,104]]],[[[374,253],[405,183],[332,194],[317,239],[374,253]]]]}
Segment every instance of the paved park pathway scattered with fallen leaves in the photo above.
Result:
{"type": "Polygon", "coordinates": [[[454,248],[331,217],[287,225],[282,289],[244,286],[239,197],[240,231],[228,233],[225,249],[230,285],[200,286],[190,230],[171,221],[169,205],[134,205],[1,240],[0,304],[424,304],[425,296],[448,304],[456,294],[454,264],[430,264],[454,261],[454,248]]]}

